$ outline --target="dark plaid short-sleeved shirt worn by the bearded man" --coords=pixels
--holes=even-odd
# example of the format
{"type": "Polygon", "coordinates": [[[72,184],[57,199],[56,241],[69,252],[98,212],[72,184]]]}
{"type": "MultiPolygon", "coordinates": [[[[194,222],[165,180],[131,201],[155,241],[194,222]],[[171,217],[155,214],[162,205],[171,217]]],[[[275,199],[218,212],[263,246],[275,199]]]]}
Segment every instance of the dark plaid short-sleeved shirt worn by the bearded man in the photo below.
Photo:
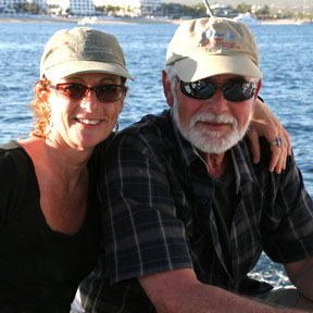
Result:
{"type": "Polygon", "coordinates": [[[313,254],[312,200],[293,158],[283,174],[270,173],[268,143],[261,140],[255,165],[245,138],[231,149],[236,196],[226,263],[213,179],[168,112],[128,127],[110,148],[100,187],[105,254],[82,284],[84,312],[155,312],[136,277],[178,268],[193,268],[205,284],[260,292],[264,285],[247,274],[262,250],[279,263],[313,254]]]}

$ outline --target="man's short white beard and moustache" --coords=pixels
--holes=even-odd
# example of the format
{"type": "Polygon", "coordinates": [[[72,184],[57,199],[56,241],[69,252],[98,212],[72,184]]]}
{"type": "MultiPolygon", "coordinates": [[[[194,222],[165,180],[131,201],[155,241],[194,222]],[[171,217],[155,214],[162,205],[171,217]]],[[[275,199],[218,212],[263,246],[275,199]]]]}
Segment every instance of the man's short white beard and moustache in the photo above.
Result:
{"type": "MultiPolygon", "coordinates": [[[[176,95],[175,95],[176,96],[176,95]]],[[[248,118],[246,125],[238,129],[237,120],[229,114],[213,114],[213,113],[196,113],[189,125],[180,123],[177,98],[174,96],[173,115],[174,121],[185,137],[193,147],[205,153],[222,153],[235,146],[241,140],[248,130],[250,118],[248,118]],[[215,123],[228,123],[231,126],[231,132],[224,137],[221,132],[210,130],[204,125],[197,122],[215,122],[215,123]]],[[[250,113],[252,104],[250,107],[250,113]]],[[[250,114],[249,114],[250,116],[250,114]]]]}

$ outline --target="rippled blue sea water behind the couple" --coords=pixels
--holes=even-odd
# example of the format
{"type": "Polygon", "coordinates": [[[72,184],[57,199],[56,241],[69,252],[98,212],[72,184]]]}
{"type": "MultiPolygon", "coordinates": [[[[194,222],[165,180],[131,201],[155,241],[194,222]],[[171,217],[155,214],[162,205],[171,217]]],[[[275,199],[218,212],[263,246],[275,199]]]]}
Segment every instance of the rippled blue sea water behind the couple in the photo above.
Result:
{"type": "MultiPolygon", "coordinates": [[[[43,46],[58,29],[73,23],[0,22],[0,143],[26,138],[32,129],[28,110],[33,85],[39,79],[43,46]]],[[[167,107],[161,72],[175,24],[98,24],[93,27],[117,37],[127,67],[136,78],[129,83],[123,128],[146,113],[167,107]]],[[[289,132],[304,184],[313,195],[313,24],[252,25],[264,74],[261,96],[289,132]]],[[[251,273],[274,286],[289,285],[283,267],[265,254],[251,273]]]]}

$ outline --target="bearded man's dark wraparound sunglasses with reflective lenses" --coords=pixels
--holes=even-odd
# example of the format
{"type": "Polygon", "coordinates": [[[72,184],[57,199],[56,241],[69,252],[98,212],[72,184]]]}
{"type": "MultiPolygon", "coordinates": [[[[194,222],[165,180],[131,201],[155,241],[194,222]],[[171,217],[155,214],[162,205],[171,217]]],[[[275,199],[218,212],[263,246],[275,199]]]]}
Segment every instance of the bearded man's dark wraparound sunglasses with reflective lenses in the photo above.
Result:
{"type": "Polygon", "coordinates": [[[193,83],[185,83],[180,80],[181,92],[195,99],[210,99],[216,91],[221,89],[224,98],[231,102],[240,102],[251,99],[256,90],[255,83],[246,82],[245,79],[228,82],[223,86],[218,86],[209,79],[200,79],[193,83]]]}

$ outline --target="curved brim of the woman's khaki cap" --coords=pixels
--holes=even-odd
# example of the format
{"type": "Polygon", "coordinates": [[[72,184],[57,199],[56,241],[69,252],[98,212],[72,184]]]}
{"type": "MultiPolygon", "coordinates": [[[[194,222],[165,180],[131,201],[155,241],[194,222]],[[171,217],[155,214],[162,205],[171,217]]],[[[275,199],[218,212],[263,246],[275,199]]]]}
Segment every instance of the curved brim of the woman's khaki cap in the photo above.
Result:
{"type": "Polygon", "coordinates": [[[84,73],[107,73],[135,80],[128,71],[117,63],[103,63],[92,61],[71,61],[61,63],[57,66],[46,70],[43,74],[49,80],[54,80],[72,76],[74,74],[84,73]]]}

